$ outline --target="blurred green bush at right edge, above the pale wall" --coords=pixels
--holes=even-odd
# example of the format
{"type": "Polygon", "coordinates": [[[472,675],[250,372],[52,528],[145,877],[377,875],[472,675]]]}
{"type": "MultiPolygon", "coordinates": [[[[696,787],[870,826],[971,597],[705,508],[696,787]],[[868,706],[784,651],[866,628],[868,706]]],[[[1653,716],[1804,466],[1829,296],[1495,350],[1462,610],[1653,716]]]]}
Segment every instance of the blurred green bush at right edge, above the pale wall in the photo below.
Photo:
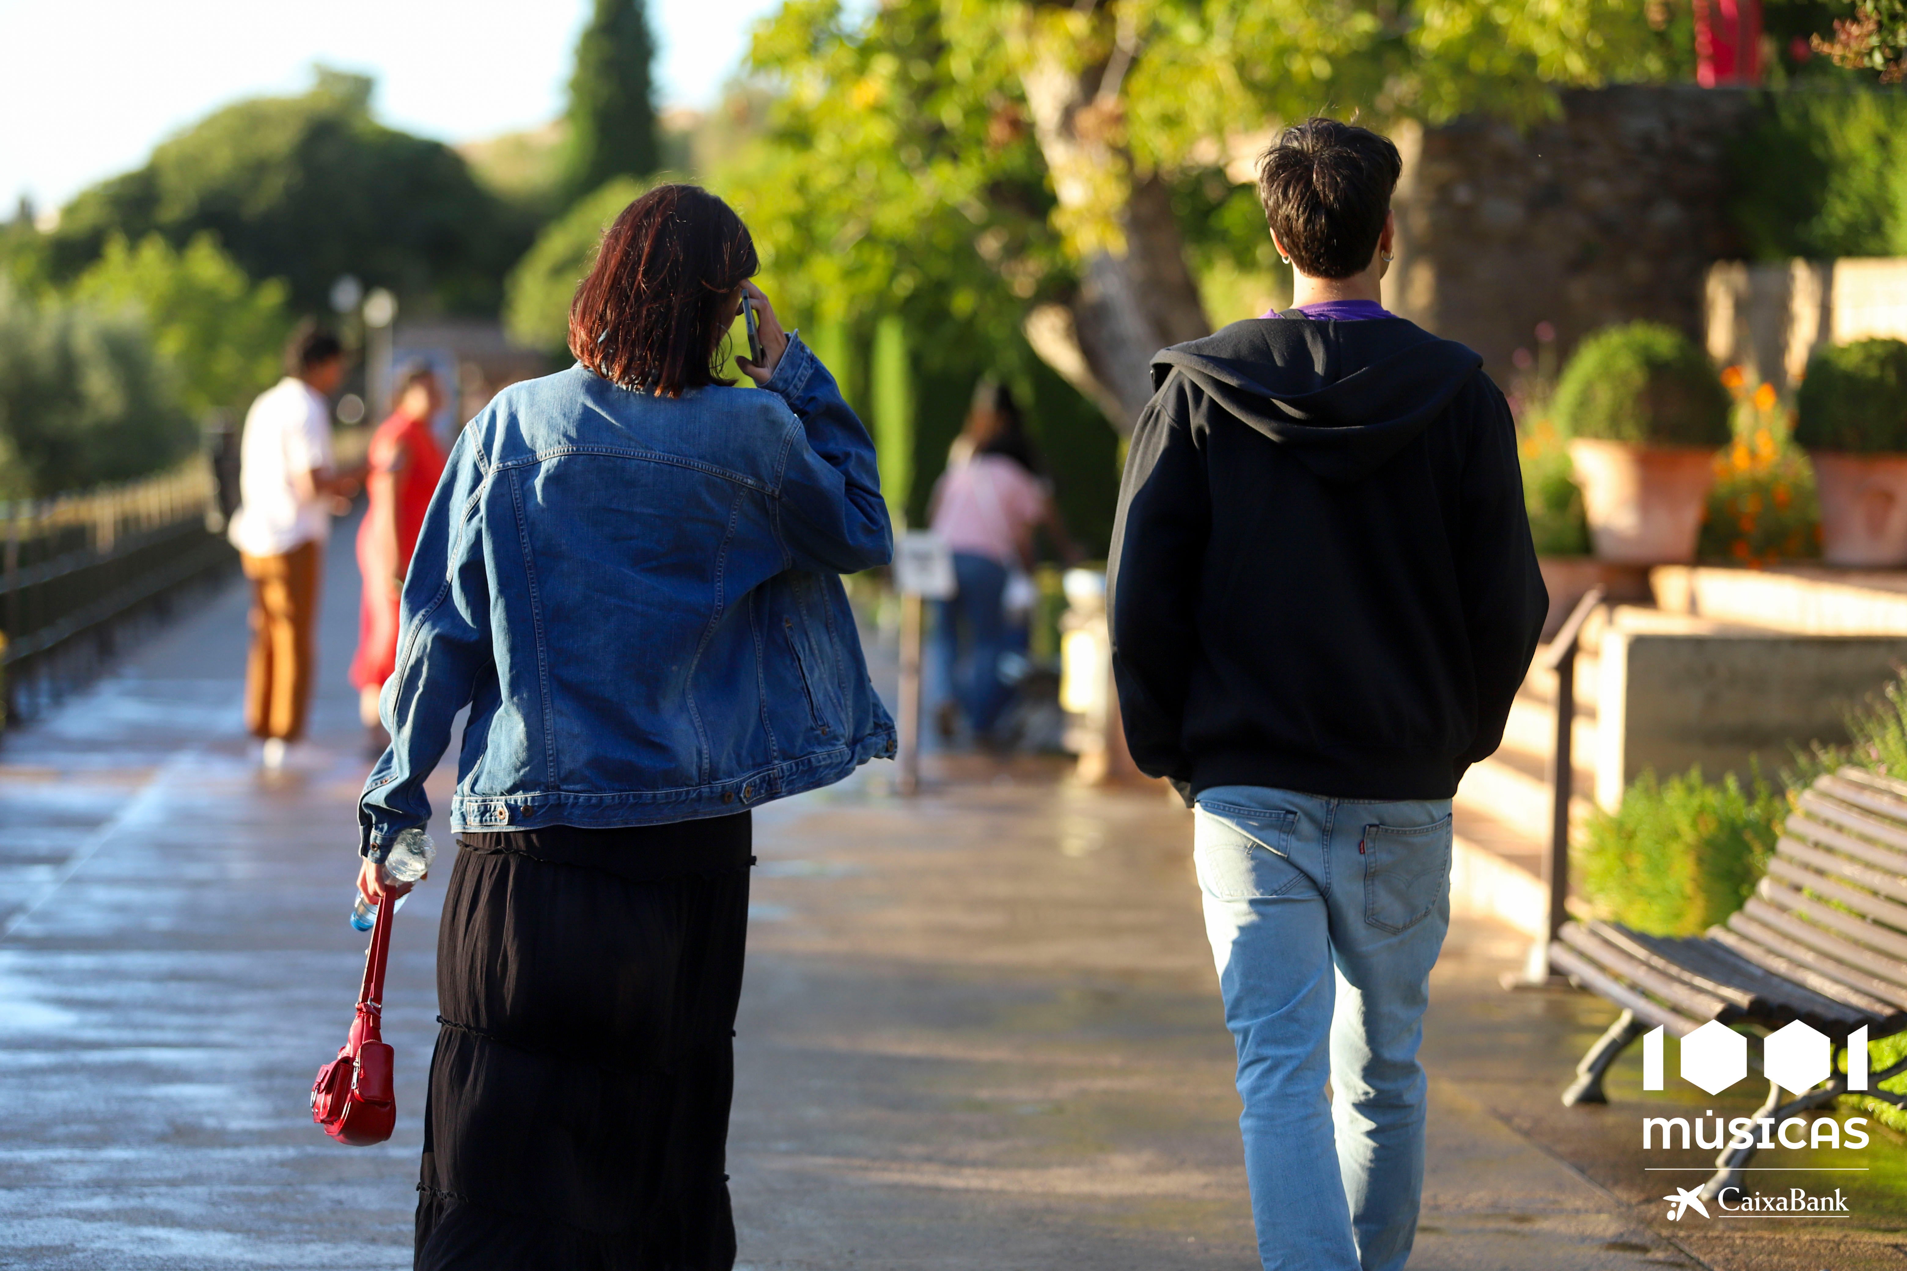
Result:
{"type": "Polygon", "coordinates": [[[1907,93],[1766,93],[1730,171],[1749,259],[1907,255],[1907,93]]]}

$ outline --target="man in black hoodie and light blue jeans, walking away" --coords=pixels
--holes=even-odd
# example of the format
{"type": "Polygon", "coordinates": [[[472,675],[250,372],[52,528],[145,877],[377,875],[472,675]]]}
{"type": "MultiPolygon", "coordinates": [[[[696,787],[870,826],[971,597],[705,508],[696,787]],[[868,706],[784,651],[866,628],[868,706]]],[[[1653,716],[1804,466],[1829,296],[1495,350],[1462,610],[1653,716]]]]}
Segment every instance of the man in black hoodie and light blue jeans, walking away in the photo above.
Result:
{"type": "Polygon", "coordinates": [[[1449,800],[1548,610],[1503,394],[1381,305],[1400,171],[1325,118],[1264,152],[1293,309],[1154,356],[1108,572],[1133,758],[1198,810],[1268,1269],[1409,1256],[1449,800]]]}

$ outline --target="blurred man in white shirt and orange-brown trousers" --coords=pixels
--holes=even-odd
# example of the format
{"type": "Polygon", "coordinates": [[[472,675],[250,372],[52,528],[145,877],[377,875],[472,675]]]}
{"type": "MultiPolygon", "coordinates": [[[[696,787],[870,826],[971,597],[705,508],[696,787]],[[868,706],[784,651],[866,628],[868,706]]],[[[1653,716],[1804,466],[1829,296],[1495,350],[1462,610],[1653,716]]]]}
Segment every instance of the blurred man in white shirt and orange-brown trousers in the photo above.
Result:
{"type": "Polygon", "coordinates": [[[305,732],[315,669],[318,574],[330,535],[332,404],[345,373],[343,345],[311,322],[284,351],[286,375],[252,402],[238,452],[238,511],[231,541],[252,579],[252,656],[246,728],[267,768],[305,732]]]}

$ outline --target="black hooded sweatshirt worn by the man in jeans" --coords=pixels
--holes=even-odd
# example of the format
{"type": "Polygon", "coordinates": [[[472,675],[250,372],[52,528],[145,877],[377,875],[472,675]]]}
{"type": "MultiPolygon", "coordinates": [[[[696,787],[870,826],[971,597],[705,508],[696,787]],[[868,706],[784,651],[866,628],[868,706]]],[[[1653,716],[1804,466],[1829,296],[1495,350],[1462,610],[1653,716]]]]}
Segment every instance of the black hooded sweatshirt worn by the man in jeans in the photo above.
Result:
{"type": "Polygon", "coordinates": [[[1186,802],[1455,795],[1548,612],[1482,358],[1293,311],[1165,349],[1152,383],[1106,577],[1140,772],[1186,802]]]}

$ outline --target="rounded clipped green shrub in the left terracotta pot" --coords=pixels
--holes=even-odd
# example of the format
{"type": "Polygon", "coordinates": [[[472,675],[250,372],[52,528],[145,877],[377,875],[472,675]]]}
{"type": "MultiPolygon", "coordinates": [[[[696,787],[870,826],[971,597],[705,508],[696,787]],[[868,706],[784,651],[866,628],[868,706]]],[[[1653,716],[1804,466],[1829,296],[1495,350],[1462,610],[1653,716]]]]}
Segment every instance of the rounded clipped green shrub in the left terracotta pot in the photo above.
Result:
{"type": "Polygon", "coordinates": [[[1556,383],[1556,423],[1569,436],[1653,446],[1722,446],[1730,396],[1709,354],[1661,322],[1606,326],[1585,339],[1556,383]]]}

